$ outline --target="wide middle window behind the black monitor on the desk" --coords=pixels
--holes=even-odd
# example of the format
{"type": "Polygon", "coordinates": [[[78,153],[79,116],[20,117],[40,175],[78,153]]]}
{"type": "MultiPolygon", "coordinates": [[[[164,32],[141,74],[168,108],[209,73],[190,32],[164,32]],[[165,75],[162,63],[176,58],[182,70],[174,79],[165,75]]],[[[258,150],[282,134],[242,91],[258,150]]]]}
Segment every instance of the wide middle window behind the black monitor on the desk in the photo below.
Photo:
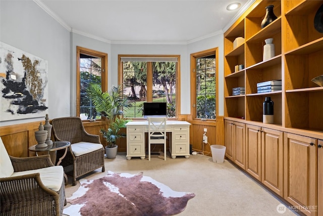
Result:
{"type": "Polygon", "coordinates": [[[144,102],[167,102],[167,116],[179,110],[179,56],[119,55],[119,83],[135,103],[124,117],[142,118],[144,102]]]}

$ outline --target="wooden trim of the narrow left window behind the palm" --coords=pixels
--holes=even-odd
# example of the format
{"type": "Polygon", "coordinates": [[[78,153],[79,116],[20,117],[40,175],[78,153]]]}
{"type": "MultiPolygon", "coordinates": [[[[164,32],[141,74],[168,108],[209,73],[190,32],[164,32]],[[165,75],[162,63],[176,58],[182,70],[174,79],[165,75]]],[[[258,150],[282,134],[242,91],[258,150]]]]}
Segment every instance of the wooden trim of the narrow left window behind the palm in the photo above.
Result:
{"type": "MultiPolygon", "coordinates": [[[[81,84],[81,73],[80,73],[80,54],[98,57],[102,59],[101,62],[101,88],[102,92],[107,91],[107,53],[91,50],[84,47],[76,46],[76,116],[80,116],[80,84],[81,84]]],[[[91,121],[82,120],[82,121],[91,121]]]]}

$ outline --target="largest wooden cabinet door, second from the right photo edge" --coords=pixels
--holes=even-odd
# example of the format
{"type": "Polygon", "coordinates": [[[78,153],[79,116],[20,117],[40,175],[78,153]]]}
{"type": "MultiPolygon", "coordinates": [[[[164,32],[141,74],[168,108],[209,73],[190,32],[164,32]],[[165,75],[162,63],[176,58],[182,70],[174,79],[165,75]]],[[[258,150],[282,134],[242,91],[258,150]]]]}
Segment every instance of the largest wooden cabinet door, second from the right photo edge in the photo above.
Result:
{"type": "Polygon", "coordinates": [[[289,133],[284,140],[284,198],[306,215],[316,215],[317,140],[289,133]]]}

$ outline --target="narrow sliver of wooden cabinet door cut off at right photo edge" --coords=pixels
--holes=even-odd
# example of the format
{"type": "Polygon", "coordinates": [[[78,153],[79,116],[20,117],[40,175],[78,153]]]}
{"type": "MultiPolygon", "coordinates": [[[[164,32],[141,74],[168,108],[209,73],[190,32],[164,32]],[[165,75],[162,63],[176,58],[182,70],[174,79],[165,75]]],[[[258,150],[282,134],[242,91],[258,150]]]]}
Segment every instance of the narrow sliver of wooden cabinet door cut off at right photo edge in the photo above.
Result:
{"type": "Polygon", "coordinates": [[[318,140],[317,215],[323,215],[323,140],[318,140]]]}

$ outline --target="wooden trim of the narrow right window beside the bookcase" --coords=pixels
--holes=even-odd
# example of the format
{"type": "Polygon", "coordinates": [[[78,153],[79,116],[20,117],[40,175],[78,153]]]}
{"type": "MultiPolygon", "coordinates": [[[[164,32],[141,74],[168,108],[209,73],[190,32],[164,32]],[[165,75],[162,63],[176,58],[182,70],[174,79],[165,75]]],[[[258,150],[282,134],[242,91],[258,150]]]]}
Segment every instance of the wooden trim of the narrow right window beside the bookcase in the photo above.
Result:
{"type": "Polygon", "coordinates": [[[196,118],[196,59],[216,55],[216,119],[206,119],[207,121],[216,121],[217,116],[219,115],[219,48],[212,48],[197,53],[192,53],[190,55],[190,71],[191,71],[191,115],[192,119],[199,120],[201,118],[196,118]],[[195,105],[195,106],[194,106],[195,105]]]}

